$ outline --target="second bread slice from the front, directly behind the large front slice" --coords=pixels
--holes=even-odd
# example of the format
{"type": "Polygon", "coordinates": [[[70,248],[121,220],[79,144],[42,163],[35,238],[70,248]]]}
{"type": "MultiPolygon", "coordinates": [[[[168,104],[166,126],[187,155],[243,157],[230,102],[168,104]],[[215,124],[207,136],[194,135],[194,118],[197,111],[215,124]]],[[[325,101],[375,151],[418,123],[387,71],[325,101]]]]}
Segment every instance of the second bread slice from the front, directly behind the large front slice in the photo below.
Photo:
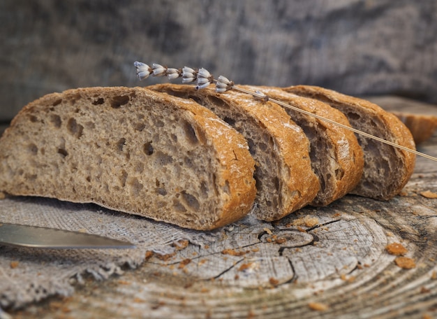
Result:
{"type": "Polygon", "coordinates": [[[234,91],[219,94],[213,88],[173,84],[149,88],[197,101],[246,137],[256,162],[257,218],[278,220],[316,197],[319,183],[311,170],[309,141],[280,106],[234,91]]]}

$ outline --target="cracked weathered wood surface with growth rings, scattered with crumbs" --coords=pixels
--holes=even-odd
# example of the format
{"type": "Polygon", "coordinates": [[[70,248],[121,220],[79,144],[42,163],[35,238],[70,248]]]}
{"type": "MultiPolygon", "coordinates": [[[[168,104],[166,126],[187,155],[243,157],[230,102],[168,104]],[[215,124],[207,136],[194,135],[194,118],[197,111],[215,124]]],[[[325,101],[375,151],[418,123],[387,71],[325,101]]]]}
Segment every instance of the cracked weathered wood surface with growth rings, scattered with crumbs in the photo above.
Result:
{"type": "MultiPolygon", "coordinates": [[[[437,113],[431,108],[431,111],[437,113]]],[[[419,147],[437,156],[437,134],[419,147]]],[[[151,255],[139,269],[87,281],[16,318],[435,318],[437,165],[417,158],[402,196],[346,196],[280,222],[246,218],[209,246],[151,255]],[[401,243],[415,267],[387,253],[401,243]]]]}

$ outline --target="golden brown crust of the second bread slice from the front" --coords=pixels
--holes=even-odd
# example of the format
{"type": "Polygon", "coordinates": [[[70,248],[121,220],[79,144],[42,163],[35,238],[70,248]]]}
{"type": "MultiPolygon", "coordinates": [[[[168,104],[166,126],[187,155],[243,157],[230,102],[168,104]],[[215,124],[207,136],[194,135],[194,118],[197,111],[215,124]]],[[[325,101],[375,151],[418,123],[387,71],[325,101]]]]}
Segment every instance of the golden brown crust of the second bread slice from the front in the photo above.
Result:
{"type": "MultiPolygon", "coordinates": [[[[252,121],[258,123],[260,129],[265,129],[266,134],[274,141],[277,152],[280,153],[279,160],[284,170],[281,174],[287,176],[287,182],[281,187],[283,201],[274,215],[263,214],[260,209],[257,213],[258,218],[268,221],[278,220],[309,204],[316,196],[319,188],[318,178],[311,170],[309,141],[280,106],[257,101],[251,95],[235,91],[220,94],[211,88],[195,90],[191,85],[172,84],[153,85],[149,88],[160,92],[170,92],[177,96],[191,96],[196,99],[214,98],[224,101],[237,113],[244,113],[252,121]]],[[[272,190],[269,191],[272,192],[272,190]]]]}

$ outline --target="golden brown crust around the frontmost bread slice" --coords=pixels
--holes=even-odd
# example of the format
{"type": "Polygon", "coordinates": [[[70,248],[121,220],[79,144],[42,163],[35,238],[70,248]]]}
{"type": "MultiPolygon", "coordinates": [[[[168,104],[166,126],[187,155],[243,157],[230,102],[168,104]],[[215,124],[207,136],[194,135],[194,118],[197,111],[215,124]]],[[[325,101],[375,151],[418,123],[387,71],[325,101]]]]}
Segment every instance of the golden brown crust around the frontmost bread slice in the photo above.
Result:
{"type": "MultiPolygon", "coordinates": [[[[207,108],[203,108],[193,101],[170,97],[167,94],[153,92],[142,87],[80,88],[67,90],[63,93],[47,94],[45,97],[31,102],[13,119],[10,127],[6,129],[6,132],[4,132],[1,137],[0,146],[3,151],[0,156],[1,162],[6,162],[8,153],[22,152],[22,155],[25,155],[24,149],[20,149],[14,145],[14,132],[17,125],[26,125],[27,122],[31,121],[32,115],[36,110],[48,114],[50,113],[50,108],[56,107],[56,105],[60,103],[59,101],[68,99],[68,101],[71,101],[73,104],[73,107],[77,108],[77,111],[80,112],[82,103],[91,104],[98,97],[117,96],[135,97],[135,101],[133,102],[128,102],[126,99],[121,99],[119,102],[121,106],[126,108],[126,112],[137,112],[139,116],[142,116],[142,114],[141,111],[138,111],[138,108],[141,108],[142,104],[152,102],[159,102],[161,105],[168,105],[169,107],[177,109],[177,113],[186,117],[187,120],[190,120],[193,127],[198,130],[196,132],[198,132],[202,138],[205,139],[207,145],[211,146],[216,152],[216,158],[212,159],[213,162],[218,162],[218,164],[216,164],[218,167],[216,183],[218,187],[227,187],[228,189],[228,192],[222,197],[223,206],[217,208],[218,212],[216,213],[218,213],[218,215],[215,216],[212,225],[207,225],[207,223],[195,224],[189,221],[185,223],[179,222],[177,223],[178,225],[195,229],[214,229],[239,220],[249,213],[253,205],[256,190],[255,180],[253,180],[254,161],[249,154],[244,138],[221,121],[214,113],[207,110],[207,108]]],[[[97,102],[97,105],[94,105],[96,105],[96,108],[100,107],[102,113],[112,111],[108,106],[105,106],[103,110],[103,106],[98,104],[99,102],[97,102]]],[[[112,108],[116,109],[119,108],[119,106],[120,105],[114,105],[112,108]]],[[[48,122],[48,115],[46,118],[48,122]]],[[[121,126],[120,129],[122,129],[121,126]]],[[[142,207],[139,207],[134,201],[111,201],[110,196],[104,197],[102,200],[102,197],[99,196],[94,198],[93,194],[90,195],[91,197],[75,197],[75,194],[63,193],[63,190],[59,190],[59,187],[54,187],[54,190],[50,190],[50,185],[47,185],[47,190],[43,192],[32,192],[31,187],[23,186],[22,183],[21,185],[17,185],[17,183],[14,184],[15,180],[4,180],[5,178],[7,179],[5,167],[6,166],[0,165],[0,188],[10,194],[56,197],[61,200],[75,202],[94,202],[107,208],[160,220],[160,218],[156,218],[156,216],[148,215],[147,212],[143,211],[142,207]]],[[[26,168],[23,167],[23,169],[26,168]]],[[[71,177],[74,178],[74,176],[71,177]]],[[[161,220],[175,223],[173,220],[161,220]]]]}

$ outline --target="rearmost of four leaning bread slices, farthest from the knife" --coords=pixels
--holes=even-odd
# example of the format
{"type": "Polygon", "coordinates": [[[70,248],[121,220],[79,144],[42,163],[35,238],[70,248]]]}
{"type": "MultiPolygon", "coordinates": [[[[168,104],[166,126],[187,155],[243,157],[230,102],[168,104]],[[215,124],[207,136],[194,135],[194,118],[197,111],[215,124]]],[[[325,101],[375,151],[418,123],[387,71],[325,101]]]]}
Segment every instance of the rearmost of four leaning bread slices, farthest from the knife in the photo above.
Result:
{"type": "MultiPolygon", "coordinates": [[[[406,126],[376,104],[323,87],[297,85],[283,90],[324,101],[343,112],[355,129],[415,150],[413,136],[406,126]]],[[[382,200],[399,194],[413,173],[415,155],[360,134],[357,139],[364,150],[364,173],[351,193],[382,200]]]]}

